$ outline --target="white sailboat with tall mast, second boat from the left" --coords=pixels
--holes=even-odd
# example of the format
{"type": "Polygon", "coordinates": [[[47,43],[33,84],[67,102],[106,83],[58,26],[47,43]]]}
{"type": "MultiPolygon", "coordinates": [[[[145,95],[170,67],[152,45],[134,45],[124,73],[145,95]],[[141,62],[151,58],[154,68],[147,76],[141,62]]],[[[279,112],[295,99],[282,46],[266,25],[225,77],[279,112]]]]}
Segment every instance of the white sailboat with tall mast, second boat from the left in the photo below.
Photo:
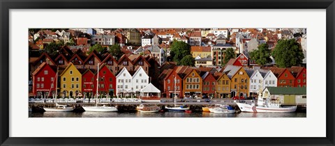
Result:
{"type": "Polygon", "coordinates": [[[82,106],[85,111],[98,111],[98,112],[112,112],[117,111],[117,108],[114,106],[98,106],[98,83],[99,83],[99,65],[98,63],[98,75],[96,78],[96,106],[82,106]]]}

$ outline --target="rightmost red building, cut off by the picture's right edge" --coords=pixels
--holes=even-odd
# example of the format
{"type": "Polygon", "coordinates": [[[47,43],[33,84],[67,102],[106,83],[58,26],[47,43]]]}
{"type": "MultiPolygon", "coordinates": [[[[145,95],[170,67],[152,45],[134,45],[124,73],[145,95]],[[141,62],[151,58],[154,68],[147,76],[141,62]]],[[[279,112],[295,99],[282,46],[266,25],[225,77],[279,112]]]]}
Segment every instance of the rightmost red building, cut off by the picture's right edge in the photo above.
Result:
{"type": "Polygon", "coordinates": [[[295,87],[306,87],[307,73],[305,67],[290,67],[288,68],[293,76],[295,76],[295,87]]]}

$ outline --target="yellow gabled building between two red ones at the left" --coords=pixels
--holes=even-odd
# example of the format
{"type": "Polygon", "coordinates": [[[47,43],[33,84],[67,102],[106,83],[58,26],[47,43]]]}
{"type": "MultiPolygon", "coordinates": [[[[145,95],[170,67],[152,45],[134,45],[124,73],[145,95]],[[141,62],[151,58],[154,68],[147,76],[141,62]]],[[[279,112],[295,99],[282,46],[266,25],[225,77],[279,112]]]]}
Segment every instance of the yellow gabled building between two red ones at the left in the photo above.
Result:
{"type": "Polygon", "coordinates": [[[60,96],[79,97],[82,92],[82,74],[73,63],[69,63],[60,74],[60,96]]]}

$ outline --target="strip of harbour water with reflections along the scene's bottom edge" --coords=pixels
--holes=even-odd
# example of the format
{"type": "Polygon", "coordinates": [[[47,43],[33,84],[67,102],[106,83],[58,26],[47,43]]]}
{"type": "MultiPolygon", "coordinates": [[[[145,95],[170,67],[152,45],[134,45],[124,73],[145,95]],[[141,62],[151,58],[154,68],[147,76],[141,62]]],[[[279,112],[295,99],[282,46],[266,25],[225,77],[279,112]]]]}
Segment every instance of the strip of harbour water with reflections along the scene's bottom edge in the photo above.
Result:
{"type": "Polygon", "coordinates": [[[29,117],[306,117],[306,113],[209,113],[209,112],[194,112],[194,113],[119,113],[119,112],[44,112],[31,113],[29,117]]]}

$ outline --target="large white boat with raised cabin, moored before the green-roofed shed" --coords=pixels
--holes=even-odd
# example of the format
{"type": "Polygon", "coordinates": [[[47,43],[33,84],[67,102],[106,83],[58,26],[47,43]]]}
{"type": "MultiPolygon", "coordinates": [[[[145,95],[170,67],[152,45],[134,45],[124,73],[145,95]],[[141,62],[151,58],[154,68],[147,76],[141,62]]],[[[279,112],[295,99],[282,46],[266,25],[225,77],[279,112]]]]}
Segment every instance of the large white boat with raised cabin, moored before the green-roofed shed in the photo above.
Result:
{"type": "MultiPolygon", "coordinates": [[[[260,88],[262,89],[262,88],[260,88]]],[[[257,104],[236,103],[241,112],[251,113],[290,113],[297,110],[297,106],[282,107],[281,104],[271,103],[269,96],[262,95],[262,90],[258,92],[257,104]]]]}

